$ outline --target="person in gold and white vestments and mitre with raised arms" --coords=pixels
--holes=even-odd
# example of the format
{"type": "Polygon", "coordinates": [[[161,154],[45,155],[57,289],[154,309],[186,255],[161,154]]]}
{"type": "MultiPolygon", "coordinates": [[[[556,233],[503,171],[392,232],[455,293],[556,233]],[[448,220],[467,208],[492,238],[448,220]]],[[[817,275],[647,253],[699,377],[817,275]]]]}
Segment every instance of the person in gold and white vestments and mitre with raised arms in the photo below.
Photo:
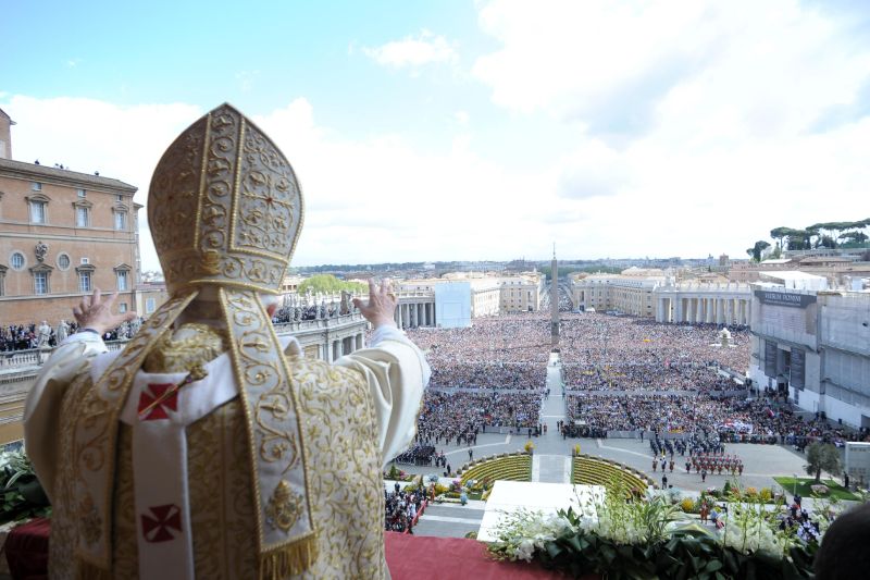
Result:
{"type": "Polygon", "coordinates": [[[51,578],[384,578],[382,468],[413,439],[430,369],[388,284],[369,348],[330,365],[269,321],[302,222],[289,163],[224,104],[164,153],[149,220],[170,299],[99,292],[44,366],[25,444],[52,503],[51,578]],[[116,295],[115,295],[116,296],[116,295]]]}

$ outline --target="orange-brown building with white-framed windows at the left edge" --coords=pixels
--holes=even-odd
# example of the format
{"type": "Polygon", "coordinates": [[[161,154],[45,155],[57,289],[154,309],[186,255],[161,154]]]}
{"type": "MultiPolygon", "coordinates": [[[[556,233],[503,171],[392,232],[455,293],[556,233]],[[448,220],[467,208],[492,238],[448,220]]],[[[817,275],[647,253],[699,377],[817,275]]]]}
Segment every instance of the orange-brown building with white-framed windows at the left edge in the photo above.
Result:
{"type": "Polygon", "coordinates": [[[12,160],[10,125],[0,111],[0,321],[55,326],[96,287],[136,308],[136,187],[12,160]]]}

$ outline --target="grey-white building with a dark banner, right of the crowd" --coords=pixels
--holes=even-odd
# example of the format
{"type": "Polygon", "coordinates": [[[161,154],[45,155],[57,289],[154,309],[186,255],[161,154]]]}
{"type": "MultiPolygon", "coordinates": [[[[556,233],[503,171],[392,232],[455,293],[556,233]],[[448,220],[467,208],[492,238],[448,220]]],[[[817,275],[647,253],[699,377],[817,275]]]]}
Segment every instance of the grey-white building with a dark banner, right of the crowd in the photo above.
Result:
{"type": "Polygon", "coordinates": [[[870,292],[792,286],[753,285],[749,378],[801,409],[870,427],[870,292]]]}

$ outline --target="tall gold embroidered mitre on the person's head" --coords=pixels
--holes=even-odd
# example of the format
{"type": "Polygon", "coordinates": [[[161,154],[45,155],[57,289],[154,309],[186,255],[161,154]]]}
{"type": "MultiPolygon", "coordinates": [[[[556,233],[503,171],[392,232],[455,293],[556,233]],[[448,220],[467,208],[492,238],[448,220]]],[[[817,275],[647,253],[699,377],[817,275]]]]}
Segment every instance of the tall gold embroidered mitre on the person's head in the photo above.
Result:
{"type": "Polygon", "coordinates": [[[148,196],[148,222],[170,294],[202,284],[276,293],[302,215],[290,163],[229,104],[175,139],[148,196]]]}

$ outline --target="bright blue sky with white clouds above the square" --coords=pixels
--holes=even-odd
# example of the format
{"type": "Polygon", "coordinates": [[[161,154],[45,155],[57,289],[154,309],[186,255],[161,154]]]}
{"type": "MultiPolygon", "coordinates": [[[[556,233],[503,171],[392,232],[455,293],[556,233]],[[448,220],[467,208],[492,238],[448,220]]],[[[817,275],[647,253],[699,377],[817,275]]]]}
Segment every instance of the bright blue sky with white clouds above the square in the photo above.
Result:
{"type": "Polygon", "coordinates": [[[300,178],[296,266],[746,258],[870,217],[862,1],[44,0],[1,26],[14,159],[145,205],[231,102],[300,178]]]}

